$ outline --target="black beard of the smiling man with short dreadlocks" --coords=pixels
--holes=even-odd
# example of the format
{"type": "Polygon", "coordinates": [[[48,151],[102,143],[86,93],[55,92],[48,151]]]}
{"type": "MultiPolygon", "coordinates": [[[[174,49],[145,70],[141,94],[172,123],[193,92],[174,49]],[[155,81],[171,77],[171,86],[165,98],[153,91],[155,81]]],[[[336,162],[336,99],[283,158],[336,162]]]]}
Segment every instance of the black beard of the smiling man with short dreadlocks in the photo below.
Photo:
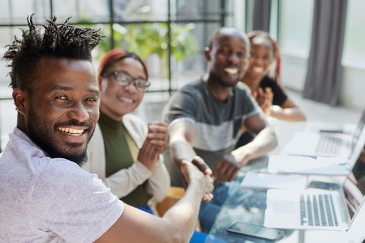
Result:
{"type": "MultiPolygon", "coordinates": [[[[70,123],[75,124],[78,122],[70,121],[70,123]]],[[[33,112],[29,112],[29,119],[28,121],[26,121],[26,126],[29,138],[35,144],[37,144],[40,149],[47,153],[47,156],[49,156],[50,158],[65,158],[67,160],[75,162],[80,167],[88,160],[86,150],[83,151],[83,153],[81,154],[72,154],[67,153],[66,151],[60,151],[60,149],[57,148],[56,144],[51,142],[51,137],[49,137],[47,133],[47,126],[44,123],[40,122],[35,117],[35,114],[33,112]],[[38,126],[34,126],[34,124],[38,124],[38,126]]],[[[90,141],[91,137],[92,136],[89,137],[88,142],[90,141]]]]}

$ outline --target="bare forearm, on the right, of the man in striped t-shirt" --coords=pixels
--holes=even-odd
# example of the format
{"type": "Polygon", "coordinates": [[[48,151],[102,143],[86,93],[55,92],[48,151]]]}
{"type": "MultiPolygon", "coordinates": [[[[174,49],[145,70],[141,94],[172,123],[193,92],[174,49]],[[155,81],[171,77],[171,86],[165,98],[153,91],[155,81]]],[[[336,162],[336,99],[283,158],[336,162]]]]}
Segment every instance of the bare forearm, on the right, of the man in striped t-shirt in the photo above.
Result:
{"type": "Polygon", "coordinates": [[[254,137],[254,140],[245,146],[232,151],[237,161],[245,165],[249,160],[266,155],[277,146],[277,137],[271,126],[266,126],[254,137]]]}

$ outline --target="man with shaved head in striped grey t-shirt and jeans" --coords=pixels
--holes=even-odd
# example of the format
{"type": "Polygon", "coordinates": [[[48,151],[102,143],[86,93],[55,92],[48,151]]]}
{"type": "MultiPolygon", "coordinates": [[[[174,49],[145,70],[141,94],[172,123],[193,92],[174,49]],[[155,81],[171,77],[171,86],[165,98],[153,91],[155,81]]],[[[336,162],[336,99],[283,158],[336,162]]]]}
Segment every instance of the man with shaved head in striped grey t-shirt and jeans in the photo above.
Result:
{"type": "MultiPolygon", "coordinates": [[[[276,146],[273,128],[268,126],[248,87],[239,82],[248,68],[249,55],[247,35],[236,28],[220,28],[205,51],[205,76],[171,97],[164,116],[169,124],[170,156],[177,165],[200,156],[220,182],[232,181],[238,169],[276,146]],[[243,130],[253,133],[254,140],[234,149],[243,130]]],[[[221,187],[215,191],[227,192],[221,187]]],[[[200,223],[206,232],[225,195],[217,194],[216,198],[222,200],[202,205],[200,210],[200,223]]]]}

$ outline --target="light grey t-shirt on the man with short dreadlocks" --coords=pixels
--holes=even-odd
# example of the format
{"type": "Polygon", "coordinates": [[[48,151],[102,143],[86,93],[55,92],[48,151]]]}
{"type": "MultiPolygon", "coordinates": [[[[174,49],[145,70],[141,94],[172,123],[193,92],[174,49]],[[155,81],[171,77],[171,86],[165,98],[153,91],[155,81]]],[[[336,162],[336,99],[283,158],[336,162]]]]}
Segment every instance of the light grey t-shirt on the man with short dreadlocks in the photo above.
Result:
{"type": "Polygon", "coordinates": [[[95,174],[10,133],[0,158],[1,242],[92,242],[123,210],[95,174]]]}

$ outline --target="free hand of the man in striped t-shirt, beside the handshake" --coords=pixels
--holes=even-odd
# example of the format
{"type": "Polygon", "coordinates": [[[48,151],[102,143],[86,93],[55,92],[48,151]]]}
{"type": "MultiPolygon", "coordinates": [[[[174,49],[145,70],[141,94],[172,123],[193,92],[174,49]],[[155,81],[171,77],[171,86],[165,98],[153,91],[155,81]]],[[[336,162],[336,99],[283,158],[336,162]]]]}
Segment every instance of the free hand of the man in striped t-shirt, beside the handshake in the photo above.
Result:
{"type": "Polygon", "coordinates": [[[216,167],[213,169],[213,177],[222,182],[232,181],[240,169],[240,165],[232,153],[225,154],[218,160],[216,167]]]}

